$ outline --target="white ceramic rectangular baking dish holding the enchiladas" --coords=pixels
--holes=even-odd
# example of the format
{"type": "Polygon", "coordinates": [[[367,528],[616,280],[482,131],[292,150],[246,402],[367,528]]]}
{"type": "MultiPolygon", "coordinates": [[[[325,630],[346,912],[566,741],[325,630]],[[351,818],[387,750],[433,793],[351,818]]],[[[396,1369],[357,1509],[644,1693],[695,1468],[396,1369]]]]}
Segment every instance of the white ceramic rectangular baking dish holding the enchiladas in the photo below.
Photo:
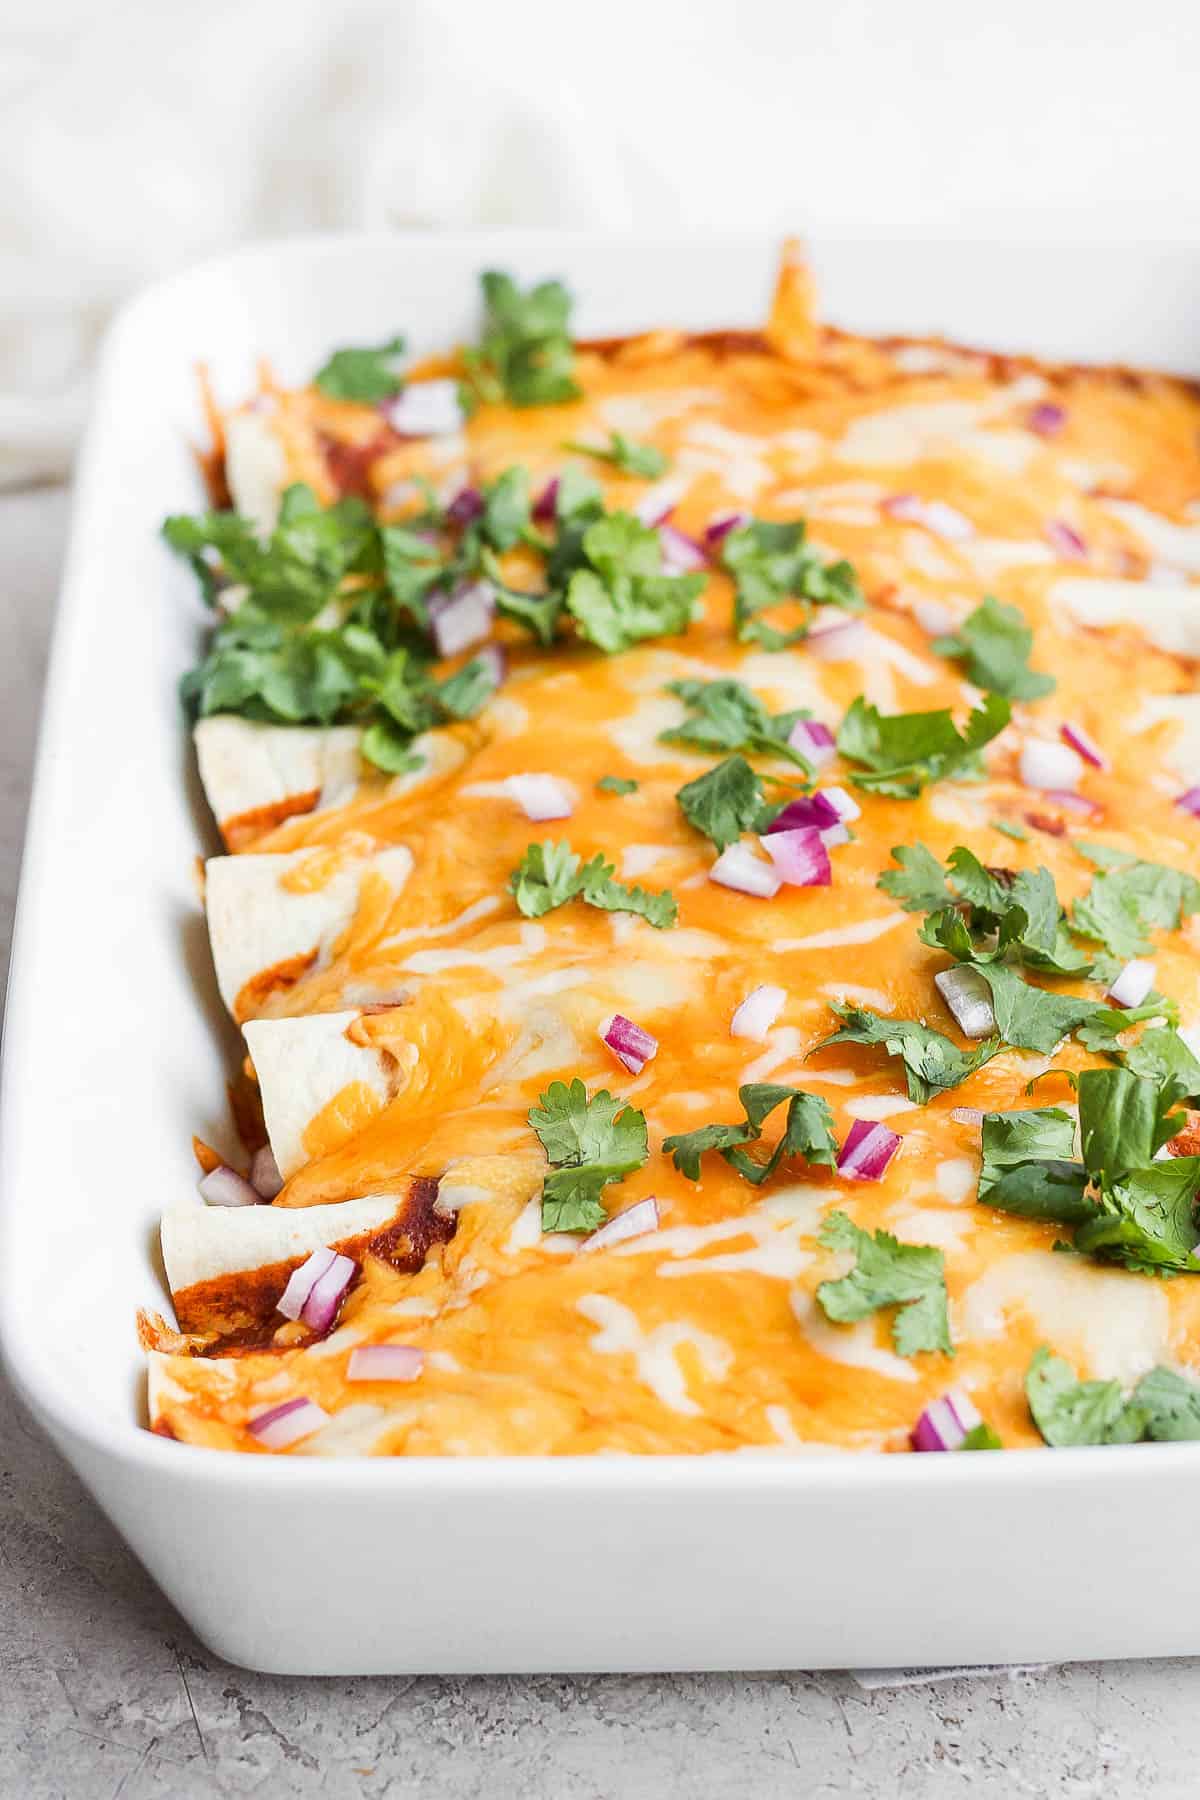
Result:
{"type": "MultiPolygon", "coordinates": [[[[563,274],[585,333],[763,317],[763,243],[371,238],[162,283],[108,342],[79,477],[5,1046],[0,1332],[54,1442],[198,1634],[266,1670],[770,1669],[1200,1649],[1200,1445],[999,1456],[318,1462],[140,1426],[155,1231],[219,1132],[230,1051],[175,684],[198,614],[193,364],[300,378],[338,342],[473,322],[475,274],[563,274]]],[[[1200,256],[817,248],[826,315],[1200,367],[1200,256]]]]}

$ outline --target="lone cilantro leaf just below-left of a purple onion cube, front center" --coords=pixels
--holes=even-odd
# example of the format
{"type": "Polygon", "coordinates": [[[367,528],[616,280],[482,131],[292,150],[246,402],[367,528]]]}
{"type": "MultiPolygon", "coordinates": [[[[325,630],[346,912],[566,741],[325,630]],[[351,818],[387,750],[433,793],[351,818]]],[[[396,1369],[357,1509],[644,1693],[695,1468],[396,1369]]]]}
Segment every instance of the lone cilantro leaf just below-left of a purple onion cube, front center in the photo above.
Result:
{"type": "Polygon", "coordinates": [[[606,1087],[588,1098],[576,1076],[570,1085],[551,1082],[529,1109],[529,1123],[552,1165],[542,1188],[542,1229],[594,1231],[604,1224],[601,1190],[646,1161],[646,1114],[606,1087]]]}

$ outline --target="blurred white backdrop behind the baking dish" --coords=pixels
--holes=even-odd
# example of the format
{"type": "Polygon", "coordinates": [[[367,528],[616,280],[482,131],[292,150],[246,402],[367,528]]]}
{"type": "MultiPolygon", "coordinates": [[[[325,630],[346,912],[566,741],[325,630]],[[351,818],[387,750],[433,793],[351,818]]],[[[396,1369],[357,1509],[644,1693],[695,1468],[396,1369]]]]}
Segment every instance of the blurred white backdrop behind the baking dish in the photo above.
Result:
{"type": "Polygon", "coordinates": [[[389,225],[1195,239],[1196,0],[0,5],[0,484],[112,306],[389,225]]]}

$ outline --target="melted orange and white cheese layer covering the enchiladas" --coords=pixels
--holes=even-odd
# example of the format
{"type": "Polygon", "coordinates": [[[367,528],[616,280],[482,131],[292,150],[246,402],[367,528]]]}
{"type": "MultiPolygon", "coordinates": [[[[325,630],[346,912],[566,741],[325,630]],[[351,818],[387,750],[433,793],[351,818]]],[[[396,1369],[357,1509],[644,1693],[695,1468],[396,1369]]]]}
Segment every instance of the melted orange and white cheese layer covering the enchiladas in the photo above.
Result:
{"type": "MultiPolygon", "coordinates": [[[[234,862],[279,859],[264,878],[282,889],[281,907],[317,907],[288,956],[272,967],[250,958],[227,995],[252,1062],[297,1021],[338,1037],[344,1057],[331,1091],[317,1082],[311,1111],[293,1121],[273,1206],[331,1206],[434,1177],[452,1235],[430,1242],[419,1267],[360,1253],[322,1341],[277,1316],[250,1343],[216,1328],[187,1345],[155,1337],[155,1429],[263,1453],[248,1420],[308,1395],[329,1422],[290,1454],[878,1451],[907,1447],[921,1408],[954,1382],[1006,1445],[1029,1445],[1040,1440],[1022,1381],[1042,1343],[1085,1377],[1200,1363],[1198,1282],[1054,1255],[1054,1226],[975,1204],[979,1130],[955,1109],[1069,1105],[1065,1071],[1097,1058],[1074,1040],[1054,1058],[1009,1049],[916,1107],[880,1049],[813,1053],[838,1024],[829,1003],[846,999],[959,1042],[934,986],[945,956],[876,886],[896,844],[921,841],[945,860],[964,842],[988,866],[1043,864],[1065,904],[1092,875],[1072,848],[1079,832],[1200,868],[1196,823],[1175,805],[1186,774],[1166,772],[1180,745],[1171,702],[1193,688],[1196,648],[1169,621],[1200,619],[1189,511],[1200,401],[1166,376],[822,329],[806,279],[799,265],[784,272],[765,337],[658,331],[579,347],[578,403],[488,405],[450,439],[380,443],[372,409],[317,389],[272,389],[272,410],[254,414],[266,421],[277,484],[308,481],[324,500],[353,486],[385,518],[401,517],[417,475],[450,495],[520,463],[536,491],[569,459],[563,441],[626,432],[669,459],[653,486],[693,536],[729,511],[804,517],[822,553],[856,569],[865,637],[846,662],[802,643],[739,644],[718,569],[685,635],[619,655],[578,641],[536,650],[500,626],[509,679],[477,718],[432,734],[421,776],[363,765],[324,799],[322,778],[221,819],[234,862]],[[1036,423],[1047,405],[1061,409],[1052,434],[1036,423]],[[925,508],[896,508],[898,495],[925,508]],[[936,781],[914,801],[862,794],[828,887],[784,886],[761,900],[714,884],[714,850],[676,790],[720,756],[664,742],[684,716],[667,684],[734,677],[772,711],[808,707],[833,729],[860,693],[889,713],[952,707],[961,720],[977,695],[957,662],[934,653],[921,617],[937,603],[961,621],[984,594],[1020,607],[1034,630],[1031,664],[1056,680],[1047,698],[1015,704],[984,752],[984,779],[936,781]],[[1018,778],[1022,743],[1056,738],[1061,720],[1108,756],[1083,783],[1090,821],[1018,778]],[[567,783],[569,819],[524,815],[507,783],[538,772],[567,783]],[[637,788],[603,792],[603,776],[637,788]],[[997,821],[1027,837],[1013,841],[997,821]],[[583,902],[522,918],[506,884],[543,839],[603,853],[621,880],[669,889],[678,923],[655,931],[583,902]],[[394,851],[410,859],[403,878],[396,862],[380,866],[394,851]],[[338,904],[320,913],[335,887],[338,904]],[[732,1037],[734,1008],[761,983],[786,994],[777,1022],[763,1042],[732,1037]],[[613,1012],[658,1040],[639,1075],[601,1040],[613,1012]],[[655,1195],[658,1231],[597,1251],[542,1233],[545,1159],[527,1116],[552,1080],[574,1076],[644,1112],[649,1159],[604,1202],[615,1213],[655,1195]],[[1033,1076],[1043,1078],[1027,1100],[1033,1076]],[[685,1179],[662,1139],[738,1120],[738,1087],[756,1080],[820,1094],[838,1141],[855,1120],[887,1121],[901,1148],[885,1177],[786,1165],[754,1188],[709,1156],[702,1179],[685,1179]],[[817,1240],[835,1210],[943,1251],[954,1357],[898,1355],[887,1312],[858,1325],[824,1316],[817,1287],[847,1267],[817,1240]],[[425,1350],[419,1379],[347,1382],[351,1350],[371,1343],[425,1350]]],[[[590,472],[610,506],[646,502],[651,484],[590,472]]],[[[516,585],[518,565],[515,553],[516,585]]],[[[835,763],[822,779],[847,783],[847,769],[835,763]]],[[[1155,945],[1157,985],[1184,1024],[1200,1022],[1198,929],[1155,945]]],[[[264,1062],[259,1075],[266,1094],[264,1062]]],[[[281,1278],[290,1267],[295,1258],[281,1278]]],[[[203,1321],[203,1294],[191,1298],[203,1321]]]]}

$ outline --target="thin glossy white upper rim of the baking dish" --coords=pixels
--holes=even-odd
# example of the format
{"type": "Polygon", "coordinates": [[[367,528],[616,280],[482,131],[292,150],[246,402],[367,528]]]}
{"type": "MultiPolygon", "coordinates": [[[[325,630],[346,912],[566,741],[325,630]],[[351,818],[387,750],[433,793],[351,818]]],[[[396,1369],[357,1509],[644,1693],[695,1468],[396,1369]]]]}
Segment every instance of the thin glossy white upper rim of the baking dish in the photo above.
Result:
{"type": "MultiPolygon", "coordinates": [[[[38,1424],[49,1429],[52,1436],[61,1435],[76,1440],[97,1454],[104,1458],[117,1458],[133,1469],[144,1471],[148,1476],[175,1474],[184,1478],[191,1474],[193,1478],[205,1480],[216,1487],[250,1483],[268,1490],[273,1485],[282,1483],[290,1492],[299,1492],[300,1489],[322,1492],[344,1489],[347,1483],[353,1485],[362,1481],[371,1489],[380,1485],[385,1489],[390,1485],[403,1485],[408,1490],[432,1490],[437,1487],[461,1490],[491,1485],[498,1492],[509,1494],[520,1494],[522,1490],[547,1492],[570,1489],[590,1489],[613,1494],[633,1494],[637,1490],[646,1494],[680,1494],[684,1487],[689,1487],[693,1492],[734,1492],[748,1498],[752,1494],[775,1494],[799,1489],[837,1490],[851,1487],[860,1490],[864,1483],[874,1481],[883,1483],[885,1490],[903,1490],[912,1481],[930,1480],[928,1474],[921,1472],[923,1462],[912,1454],[840,1451],[838,1447],[819,1444],[799,1453],[788,1453],[786,1447],[781,1447],[779,1453],[775,1453],[774,1447],[768,1447],[763,1451],[712,1451],[703,1454],[666,1453],[637,1456],[520,1456],[491,1453],[479,1456],[246,1456],[241,1451],[212,1449],[167,1440],[149,1431],[133,1417],[119,1418],[115,1424],[108,1420],[97,1422],[83,1400],[72,1399],[68,1391],[63,1391],[61,1388],[56,1388],[41,1379],[23,1334],[11,1323],[14,1309],[7,1305],[7,1298],[18,1280],[18,1269],[16,1258],[9,1255],[13,1238],[11,1217],[16,1201],[13,1193],[13,1181],[9,1179],[11,1150],[7,1145],[11,1143],[11,1134],[7,1134],[4,1127],[11,1116],[11,1109],[16,1107],[14,1046],[20,1044],[20,1039],[23,1037],[23,1021],[36,1004],[36,995],[32,994],[32,967],[31,959],[23,954],[23,943],[29,936],[27,914],[32,913],[34,898],[47,880],[47,862],[52,857],[54,848],[49,833],[47,806],[41,801],[47,787],[49,763],[56,745],[67,736],[61,720],[61,715],[65,713],[65,671],[76,653],[77,639],[86,628],[86,610],[81,603],[79,563],[86,547],[86,522],[94,511],[92,497],[99,488],[103,459],[106,454],[106,400],[110,389],[113,387],[113,371],[117,367],[121,342],[137,326],[139,315],[146,310],[157,308],[176,288],[185,288],[198,277],[236,274],[243,265],[272,263],[281,259],[288,261],[293,257],[297,261],[311,256],[338,259],[347,254],[376,254],[380,250],[419,254],[423,248],[434,247],[435,250],[448,248],[452,254],[471,250],[479,256],[482,266],[488,257],[500,256],[506,250],[518,254],[542,248],[547,252],[569,252],[572,247],[612,245],[613,248],[626,252],[637,250],[639,247],[655,247],[657,250],[662,250],[664,247],[703,247],[709,252],[718,254],[723,247],[761,248],[765,236],[766,234],[759,230],[685,236],[680,232],[621,234],[610,230],[578,229],[491,229],[450,230],[437,234],[419,230],[290,234],[241,245],[234,250],[203,257],[187,268],[162,275],[140,286],[113,313],[97,356],[86,430],[72,482],[63,572],[58,583],[50,653],[47,661],[32,779],[29,787],[29,814],[20,864],[4,1010],[4,1039],[0,1049],[0,1366],[4,1366],[22,1402],[29,1408],[38,1424]]],[[[903,245],[907,252],[919,250],[923,245],[948,250],[963,248],[972,243],[972,239],[955,239],[952,243],[952,239],[939,236],[912,238],[903,232],[894,236],[889,232],[873,232],[871,236],[864,236],[862,232],[829,230],[822,230],[813,241],[817,250],[822,245],[829,245],[833,248],[903,245]]],[[[986,241],[991,248],[999,248],[991,238],[986,241]]],[[[1007,247],[1024,248],[1031,254],[1038,250],[1033,243],[1024,247],[1007,247]]],[[[1094,252],[1114,254],[1114,245],[1105,245],[1101,241],[1090,241],[1074,248],[1083,256],[1094,252]]],[[[1150,254],[1162,252],[1178,257],[1187,256],[1186,247],[1169,243],[1146,245],[1139,248],[1150,254]]],[[[930,331],[927,337],[936,337],[936,333],[930,331]]],[[[972,346],[959,338],[952,338],[952,342],[964,342],[966,347],[982,349],[982,346],[972,346]]],[[[185,803],[185,796],[180,790],[180,805],[185,803]]],[[[1151,1469],[1157,1469],[1162,1476],[1169,1476],[1173,1472],[1186,1472],[1200,1467],[1200,1444],[1078,1445],[1058,1449],[1052,1456],[1047,1456],[1042,1447],[1024,1447],[1009,1449],[999,1460],[990,1456],[950,1458],[948,1463],[936,1463],[934,1469],[941,1471],[936,1480],[950,1481],[968,1492],[977,1492],[981,1487],[991,1489],[993,1485],[1004,1489],[1013,1481],[1025,1487],[1031,1478],[1034,1487],[1047,1481],[1054,1487],[1060,1485],[1061,1478],[1065,1478],[1069,1471],[1079,1474],[1081,1456],[1088,1458],[1087,1467],[1096,1480],[1112,1478],[1119,1471],[1124,1472],[1124,1480],[1141,1480],[1151,1469]],[[1133,1462],[1130,1460],[1132,1451],[1139,1451],[1142,1458],[1150,1458],[1142,1476],[1135,1474],[1137,1458],[1133,1458],[1133,1462]],[[1067,1462],[1061,1460],[1063,1456],[1067,1462]],[[1058,1476],[1054,1474],[1056,1469],[1058,1476]],[[1036,1474],[1036,1471],[1042,1472],[1036,1474]]]]}

